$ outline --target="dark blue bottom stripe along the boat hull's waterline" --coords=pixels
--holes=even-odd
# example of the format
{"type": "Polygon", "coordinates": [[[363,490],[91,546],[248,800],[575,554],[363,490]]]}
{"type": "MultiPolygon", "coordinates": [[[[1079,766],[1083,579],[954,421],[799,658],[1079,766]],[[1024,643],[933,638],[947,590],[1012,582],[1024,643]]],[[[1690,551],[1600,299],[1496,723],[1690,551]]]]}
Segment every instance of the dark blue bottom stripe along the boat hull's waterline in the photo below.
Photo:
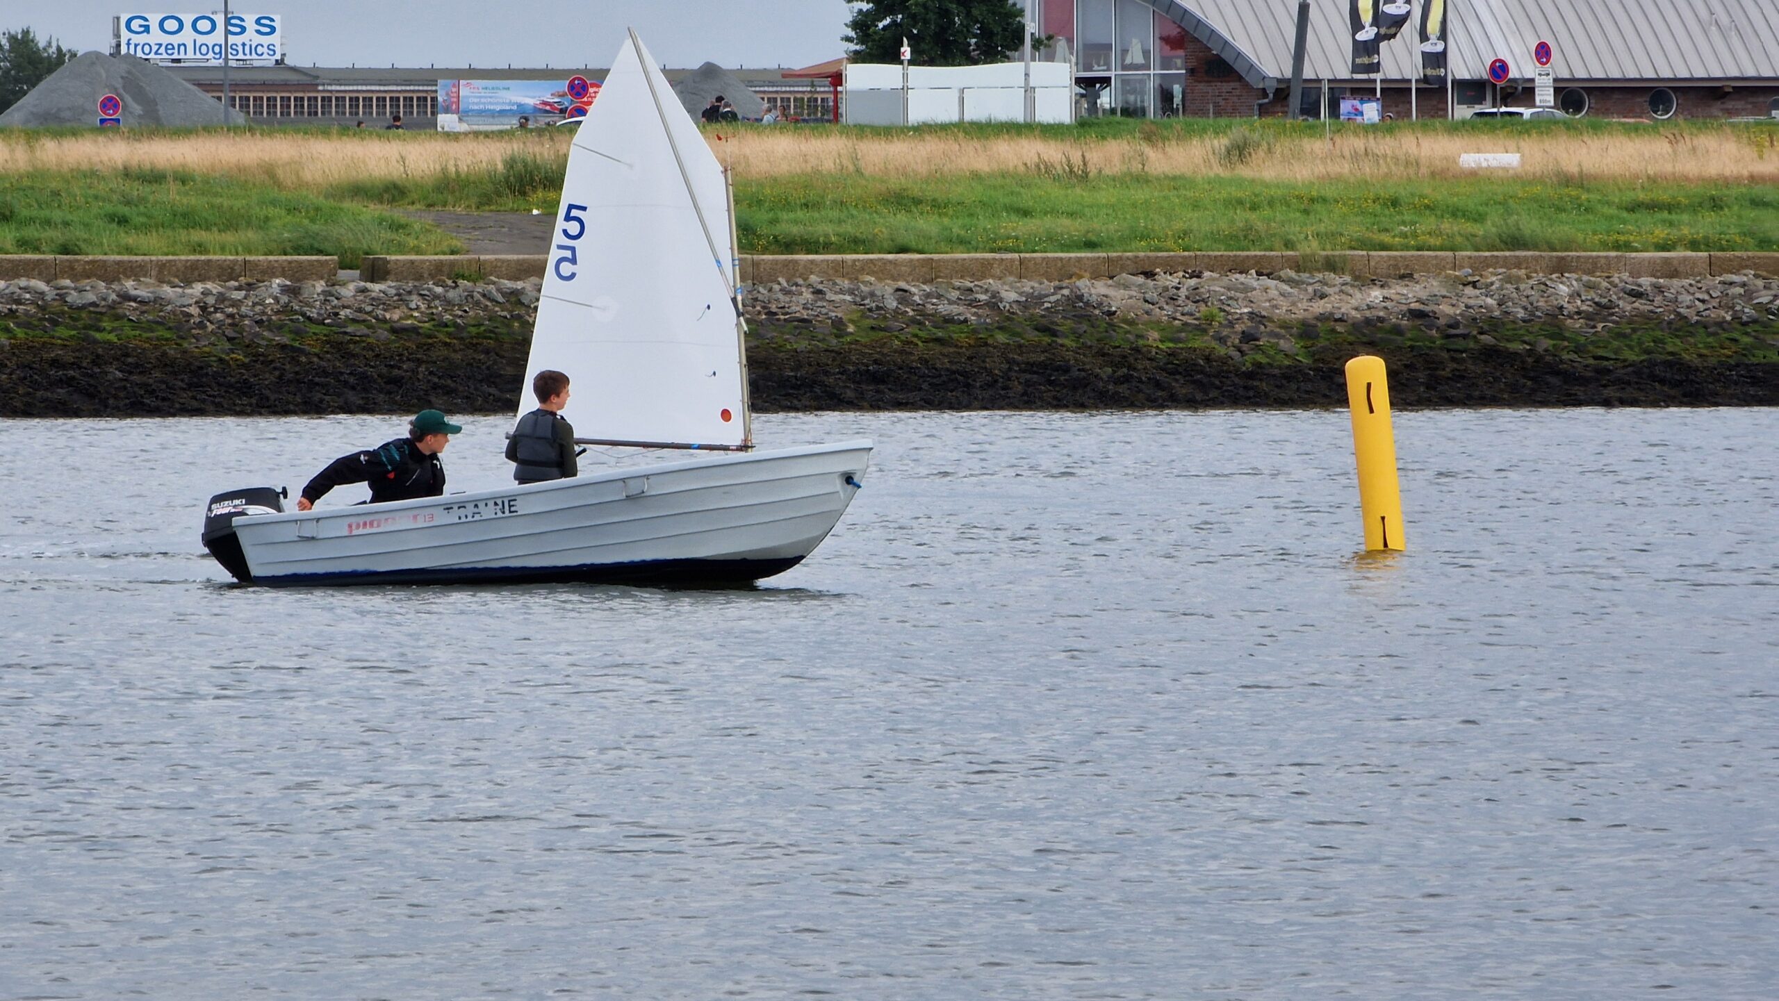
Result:
{"type": "Polygon", "coordinates": [[[459,567],[439,571],[352,571],[338,574],[285,574],[253,578],[265,587],[375,585],[375,583],[655,583],[735,585],[781,574],[802,557],[781,560],[642,560],[578,567],[459,567]]]}

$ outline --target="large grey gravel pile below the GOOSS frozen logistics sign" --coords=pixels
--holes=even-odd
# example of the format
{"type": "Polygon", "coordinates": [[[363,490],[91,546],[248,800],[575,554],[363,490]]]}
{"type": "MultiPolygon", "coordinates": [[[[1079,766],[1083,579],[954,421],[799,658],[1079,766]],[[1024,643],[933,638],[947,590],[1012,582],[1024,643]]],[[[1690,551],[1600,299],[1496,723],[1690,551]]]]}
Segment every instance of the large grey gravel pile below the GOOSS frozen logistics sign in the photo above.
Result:
{"type": "MultiPolygon", "coordinates": [[[[222,101],[133,55],[87,52],[32,87],[0,114],[0,126],[98,124],[105,94],[123,100],[125,128],[135,124],[222,124],[222,101]]],[[[244,121],[237,114],[235,121],[244,121]]]]}

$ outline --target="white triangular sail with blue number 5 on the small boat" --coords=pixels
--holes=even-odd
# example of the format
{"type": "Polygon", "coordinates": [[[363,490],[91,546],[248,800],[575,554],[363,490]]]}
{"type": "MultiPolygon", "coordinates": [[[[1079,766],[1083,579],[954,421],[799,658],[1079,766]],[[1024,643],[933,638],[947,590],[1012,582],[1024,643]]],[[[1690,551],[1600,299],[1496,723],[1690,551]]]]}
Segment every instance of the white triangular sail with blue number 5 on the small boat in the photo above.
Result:
{"type": "Polygon", "coordinates": [[[569,149],[519,391],[555,368],[576,437],[745,446],[722,167],[635,34],[569,149]]]}

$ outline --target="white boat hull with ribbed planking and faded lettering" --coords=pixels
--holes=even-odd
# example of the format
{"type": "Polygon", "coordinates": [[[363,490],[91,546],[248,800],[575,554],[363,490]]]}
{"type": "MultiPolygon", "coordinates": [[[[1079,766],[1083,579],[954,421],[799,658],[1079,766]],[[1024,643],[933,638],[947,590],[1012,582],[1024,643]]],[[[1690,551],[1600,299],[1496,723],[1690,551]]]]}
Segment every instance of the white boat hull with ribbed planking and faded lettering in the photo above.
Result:
{"type": "MultiPolygon", "coordinates": [[[[600,471],[377,505],[237,517],[246,583],[738,585],[802,562],[872,443],[600,471]]],[[[237,574],[240,576],[240,574],[237,574]]]]}

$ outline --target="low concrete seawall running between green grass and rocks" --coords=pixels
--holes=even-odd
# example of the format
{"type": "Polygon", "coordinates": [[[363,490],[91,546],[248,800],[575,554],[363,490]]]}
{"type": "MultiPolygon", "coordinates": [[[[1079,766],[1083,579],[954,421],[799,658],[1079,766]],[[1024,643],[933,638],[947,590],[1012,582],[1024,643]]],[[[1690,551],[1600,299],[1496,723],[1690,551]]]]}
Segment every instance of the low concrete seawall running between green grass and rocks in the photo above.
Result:
{"type": "MultiPolygon", "coordinates": [[[[544,254],[366,256],[365,281],[541,279],[544,254]]],[[[1345,274],[1404,277],[1457,270],[1519,270],[1526,274],[1624,274],[1631,277],[1711,277],[1756,272],[1779,277],[1779,252],[1726,254],[1594,254],[1594,252],[1452,252],[1452,251],[1329,251],[1329,252],[1131,252],[1131,254],[783,254],[744,256],[742,281],[875,279],[934,281],[1073,281],[1137,272],[1217,274],[1345,274]]],[[[116,258],[0,254],[0,281],[329,281],[338,261],[313,258],[116,258]]]]}

